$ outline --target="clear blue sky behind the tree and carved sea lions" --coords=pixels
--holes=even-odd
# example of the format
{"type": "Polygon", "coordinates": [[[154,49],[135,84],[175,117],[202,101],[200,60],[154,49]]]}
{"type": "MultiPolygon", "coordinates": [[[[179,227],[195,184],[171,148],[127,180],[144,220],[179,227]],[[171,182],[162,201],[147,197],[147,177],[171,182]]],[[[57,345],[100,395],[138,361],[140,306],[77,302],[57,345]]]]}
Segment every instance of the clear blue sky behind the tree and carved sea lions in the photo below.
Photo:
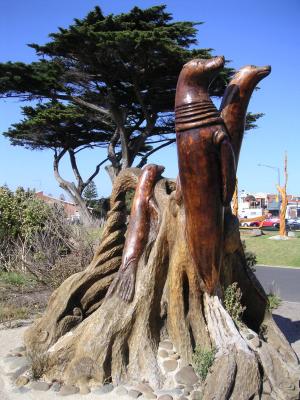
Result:
{"type": "MultiPolygon", "coordinates": [[[[249,110],[264,112],[259,128],[246,135],[239,162],[239,188],[249,192],[274,192],[277,171],[259,167],[266,164],[280,167],[284,151],[288,153],[288,191],[300,195],[299,180],[299,98],[300,98],[300,2],[299,0],[1,0],[0,61],[35,60],[27,43],[43,44],[47,35],[58,26],[68,26],[73,18],[84,17],[95,5],[105,14],[121,13],[135,5],[149,7],[167,4],[176,20],[203,21],[199,26],[199,47],[214,49],[225,55],[231,66],[246,64],[272,66],[272,73],[260,83],[261,90],[252,97],[249,110]]],[[[0,132],[21,118],[16,100],[0,100],[0,132]]],[[[87,176],[99,160],[100,150],[82,154],[79,164],[87,176]]],[[[0,136],[0,185],[22,185],[58,195],[52,173],[52,153],[12,147],[0,136]]],[[[165,175],[177,175],[176,147],[167,148],[150,158],[150,162],[166,166],[165,175]]],[[[61,173],[71,178],[67,163],[61,173]]],[[[108,195],[110,180],[103,170],[95,179],[98,193],[108,195]]]]}

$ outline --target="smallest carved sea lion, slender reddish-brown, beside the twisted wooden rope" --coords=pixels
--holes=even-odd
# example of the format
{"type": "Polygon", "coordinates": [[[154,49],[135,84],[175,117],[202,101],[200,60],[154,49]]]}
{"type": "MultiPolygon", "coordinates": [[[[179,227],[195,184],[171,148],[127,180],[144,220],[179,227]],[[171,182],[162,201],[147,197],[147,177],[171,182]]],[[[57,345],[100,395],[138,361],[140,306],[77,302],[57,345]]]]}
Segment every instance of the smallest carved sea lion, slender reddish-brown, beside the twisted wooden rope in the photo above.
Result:
{"type": "Polygon", "coordinates": [[[163,166],[155,164],[143,168],[133,198],[122,264],[107,296],[117,290],[124,301],[130,302],[133,299],[137,266],[147,244],[150,217],[153,212],[157,214],[153,189],[163,171],[163,166]]]}

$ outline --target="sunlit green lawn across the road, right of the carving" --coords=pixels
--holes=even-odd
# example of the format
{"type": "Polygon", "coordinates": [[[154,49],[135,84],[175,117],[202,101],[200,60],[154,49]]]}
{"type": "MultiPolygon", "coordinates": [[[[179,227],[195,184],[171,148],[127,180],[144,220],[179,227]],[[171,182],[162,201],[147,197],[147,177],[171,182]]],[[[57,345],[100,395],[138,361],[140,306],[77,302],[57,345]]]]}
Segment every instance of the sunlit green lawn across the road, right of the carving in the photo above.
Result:
{"type": "Polygon", "coordinates": [[[255,253],[257,264],[300,268],[300,232],[297,232],[297,238],[290,240],[269,240],[270,236],[278,235],[278,232],[264,233],[263,236],[250,237],[241,231],[241,238],[247,250],[255,253]]]}

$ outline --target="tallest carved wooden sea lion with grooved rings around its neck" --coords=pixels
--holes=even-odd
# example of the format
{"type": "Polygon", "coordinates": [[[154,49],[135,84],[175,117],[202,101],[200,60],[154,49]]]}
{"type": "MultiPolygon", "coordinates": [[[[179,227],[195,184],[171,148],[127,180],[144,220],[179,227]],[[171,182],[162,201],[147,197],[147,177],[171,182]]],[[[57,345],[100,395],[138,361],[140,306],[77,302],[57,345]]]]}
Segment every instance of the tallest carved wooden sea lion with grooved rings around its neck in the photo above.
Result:
{"type": "Polygon", "coordinates": [[[185,64],[176,89],[179,177],[191,256],[208,293],[213,293],[222,261],[224,207],[235,188],[235,159],[208,86],[223,57],[185,64]]]}

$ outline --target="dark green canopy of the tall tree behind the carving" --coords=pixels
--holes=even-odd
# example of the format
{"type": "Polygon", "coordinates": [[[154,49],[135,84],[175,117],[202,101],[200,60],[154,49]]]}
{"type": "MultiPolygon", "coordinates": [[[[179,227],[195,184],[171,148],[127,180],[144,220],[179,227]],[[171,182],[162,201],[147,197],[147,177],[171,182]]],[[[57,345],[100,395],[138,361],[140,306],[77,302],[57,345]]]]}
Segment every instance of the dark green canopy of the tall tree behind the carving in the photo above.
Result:
{"type": "MultiPolygon", "coordinates": [[[[183,64],[211,57],[211,49],[196,48],[200,24],[173,21],[164,5],[108,16],[95,7],[51,33],[48,43],[31,44],[39,61],[0,64],[3,97],[46,101],[24,107],[24,120],[5,135],[14,145],[54,149],[57,162],[66,152],[74,162],[75,149],[105,146],[112,178],[137,157],[144,165],[175,140],[174,96],[183,64]]],[[[224,69],[211,95],[223,94],[232,72],[224,69]]],[[[250,115],[247,129],[257,117],[250,115]]],[[[79,182],[79,196],[83,188],[79,182]]]]}

